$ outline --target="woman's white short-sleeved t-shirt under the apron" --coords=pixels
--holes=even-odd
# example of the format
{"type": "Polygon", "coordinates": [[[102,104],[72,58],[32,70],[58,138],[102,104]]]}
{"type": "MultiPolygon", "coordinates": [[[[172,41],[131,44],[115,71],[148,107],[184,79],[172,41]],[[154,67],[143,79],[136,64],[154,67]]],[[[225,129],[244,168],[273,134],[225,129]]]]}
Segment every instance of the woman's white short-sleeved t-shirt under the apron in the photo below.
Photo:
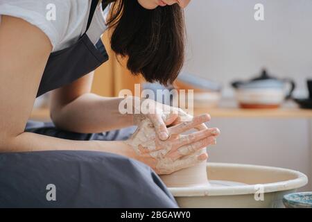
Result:
{"type": "MultiPolygon", "coordinates": [[[[0,0],[0,25],[1,15],[24,19],[49,37],[52,51],[59,51],[77,42],[80,35],[85,33],[91,2],[92,0],[0,0]]],[[[94,12],[87,31],[94,44],[107,29],[105,20],[108,10],[109,7],[103,12],[102,5],[99,4],[94,12]]]]}

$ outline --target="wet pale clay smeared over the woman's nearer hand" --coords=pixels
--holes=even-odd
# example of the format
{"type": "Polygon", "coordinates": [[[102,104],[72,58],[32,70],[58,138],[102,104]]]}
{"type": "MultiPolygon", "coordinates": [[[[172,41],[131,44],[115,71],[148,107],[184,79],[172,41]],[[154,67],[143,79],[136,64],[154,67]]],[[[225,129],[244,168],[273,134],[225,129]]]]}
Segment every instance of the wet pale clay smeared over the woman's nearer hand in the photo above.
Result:
{"type": "MultiPolygon", "coordinates": [[[[182,127],[179,126],[180,132],[182,133],[189,125],[190,121],[183,122],[182,127]]],[[[175,126],[173,126],[173,131],[174,128],[175,126]]],[[[211,135],[219,133],[218,129],[209,130],[211,135]]],[[[179,135],[180,132],[177,130],[177,133],[171,135],[171,138],[166,141],[159,140],[154,124],[150,119],[140,116],[137,131],[126,143],[135,150],[137,155],[152,157],[155,160],[155,171],[158,174],[169,174],[207,160],[204,147],[216,143],[215,137],[207,137],[207,132],[205,134],[201,132],[200,140],[195,135],[179,135]],[[182,144],[182,146],[177,148],[177,144],[182,144]],[[173,152],[174,149],[177,149],[177,152],[173,152]]],[[[200,135],[199,132],[198,135],[200,135]]]]}

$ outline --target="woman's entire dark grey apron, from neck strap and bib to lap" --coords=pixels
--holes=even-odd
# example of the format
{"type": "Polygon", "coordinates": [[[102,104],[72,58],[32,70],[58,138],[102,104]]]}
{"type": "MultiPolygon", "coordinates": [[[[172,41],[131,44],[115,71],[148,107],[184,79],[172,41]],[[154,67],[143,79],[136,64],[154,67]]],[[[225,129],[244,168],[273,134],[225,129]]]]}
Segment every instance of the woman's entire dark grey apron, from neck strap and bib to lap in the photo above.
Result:
{"type": "MultiPolygon", "coordinates": [[[[86,32],[97,4],[98,0],[92,1],[86,32]]],[[[86,32],[73,46],[51,53],[37,96],[72,83],[108,59],[101,40],[94,46],[86,32]]],[[[26,131],[63,139],[123,140],[133,128],[80,134],[53,123],[28,121],[26,131]]],[[[136,160],[103,152],[38,151],[0,153],[0,207],[177,205],[157,174],[136,160]]]]}

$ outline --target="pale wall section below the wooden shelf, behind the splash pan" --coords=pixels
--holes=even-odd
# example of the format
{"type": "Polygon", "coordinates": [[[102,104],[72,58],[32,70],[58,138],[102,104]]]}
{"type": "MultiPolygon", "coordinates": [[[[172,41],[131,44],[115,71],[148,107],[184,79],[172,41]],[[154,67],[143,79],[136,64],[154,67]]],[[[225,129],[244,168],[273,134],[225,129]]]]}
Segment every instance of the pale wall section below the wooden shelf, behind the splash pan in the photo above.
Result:
{"type": "MultiPolygon", "coordinates": [[[[211,119],[220,128],[216,146],[208,147],[209,162],[284,167],[312,180],[309,123],[304,119],[211,119]]],[[[312,182],[302,190],[312,190],[312,182]]]]}

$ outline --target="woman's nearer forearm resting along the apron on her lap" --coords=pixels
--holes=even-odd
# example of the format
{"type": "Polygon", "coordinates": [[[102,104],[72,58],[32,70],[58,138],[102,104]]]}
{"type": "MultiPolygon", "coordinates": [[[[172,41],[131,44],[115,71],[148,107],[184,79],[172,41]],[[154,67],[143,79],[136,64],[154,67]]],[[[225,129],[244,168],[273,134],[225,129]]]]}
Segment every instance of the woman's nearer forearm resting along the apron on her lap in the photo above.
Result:
{"type": "Polygon", "coordinates": [[[0,144],[0,152],[25,151],[102,151],[127,157],[135,157],[132,149],[123,142],[116,141],[76,141],[59,139],[35,133],[21,133],[16,137],[6,138],[0,144]]]}

